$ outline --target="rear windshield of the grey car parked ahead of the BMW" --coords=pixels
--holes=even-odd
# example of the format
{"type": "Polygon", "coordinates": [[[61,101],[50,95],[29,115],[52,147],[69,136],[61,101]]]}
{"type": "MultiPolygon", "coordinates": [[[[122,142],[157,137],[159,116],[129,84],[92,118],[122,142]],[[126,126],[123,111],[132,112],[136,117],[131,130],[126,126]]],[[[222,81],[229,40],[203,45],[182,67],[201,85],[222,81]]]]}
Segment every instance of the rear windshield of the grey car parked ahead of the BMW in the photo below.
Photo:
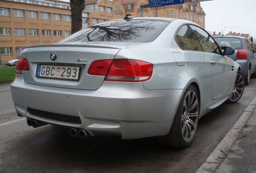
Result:
{"type": "Polygon", "coordinates": [[[214,40],[219,44],[219,46],[229,46],[236,50],[244,49],[242,39],[240,38],[214,37],[214,40]]]}

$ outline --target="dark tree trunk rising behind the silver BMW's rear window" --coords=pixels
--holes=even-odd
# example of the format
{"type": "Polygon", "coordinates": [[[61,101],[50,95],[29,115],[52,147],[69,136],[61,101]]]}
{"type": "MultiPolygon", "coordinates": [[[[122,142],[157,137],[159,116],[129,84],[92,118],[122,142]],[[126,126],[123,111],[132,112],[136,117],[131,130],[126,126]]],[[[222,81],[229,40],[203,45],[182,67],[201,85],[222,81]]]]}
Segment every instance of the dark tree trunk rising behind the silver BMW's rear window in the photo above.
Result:
{"type": "Polygon", "coordinates": [[[82,12],[85,8],[85,0],[70,0],[71,7],[71,34],[82,29],[82,12]]]}

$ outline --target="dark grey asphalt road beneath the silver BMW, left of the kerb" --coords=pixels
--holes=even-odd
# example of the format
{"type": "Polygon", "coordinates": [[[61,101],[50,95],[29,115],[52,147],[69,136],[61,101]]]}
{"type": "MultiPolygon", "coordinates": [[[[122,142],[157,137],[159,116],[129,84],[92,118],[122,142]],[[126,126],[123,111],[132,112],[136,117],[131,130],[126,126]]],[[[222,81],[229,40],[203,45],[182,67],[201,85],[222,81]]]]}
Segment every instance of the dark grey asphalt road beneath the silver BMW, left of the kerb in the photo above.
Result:
{"type": "Polygon", "coordinates": [[[165,147],[157,138],[72,138],[69,129],[34,129],[17,117],[9,85],[0,85],[0,173],[194,173],[256,95],[256,79],[240,101],[223,104],[199,120],[192,145],[165,147]]]}

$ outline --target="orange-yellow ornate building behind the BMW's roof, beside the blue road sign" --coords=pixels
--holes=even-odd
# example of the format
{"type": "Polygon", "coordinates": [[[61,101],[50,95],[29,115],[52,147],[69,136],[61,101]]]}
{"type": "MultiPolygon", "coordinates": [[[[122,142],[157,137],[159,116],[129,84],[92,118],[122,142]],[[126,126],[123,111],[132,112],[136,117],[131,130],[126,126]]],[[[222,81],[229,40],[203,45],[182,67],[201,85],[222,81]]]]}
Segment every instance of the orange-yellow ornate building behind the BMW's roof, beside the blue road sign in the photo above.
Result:
{"type": "Polygon", "coordinates": [[[124,18],[126,14],[134,17],[167,17],[193,21],[205,28],[205,13],[200,2],[186,2],[157,8],[140,8],[140,5],[149,4],[148,0],[113,0],[114,14],[124,18]]]}

